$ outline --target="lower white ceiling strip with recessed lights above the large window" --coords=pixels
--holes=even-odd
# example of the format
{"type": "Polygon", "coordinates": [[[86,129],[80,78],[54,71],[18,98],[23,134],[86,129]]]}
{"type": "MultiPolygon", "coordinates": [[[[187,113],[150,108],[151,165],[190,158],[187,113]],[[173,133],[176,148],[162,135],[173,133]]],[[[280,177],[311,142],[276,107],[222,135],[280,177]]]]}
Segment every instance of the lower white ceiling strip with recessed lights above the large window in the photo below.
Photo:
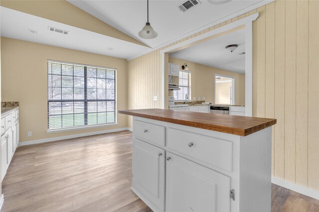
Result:
{"type": "Polygon", "coordinates": [[[150,48],[56,21],[0,7],[1,36],[35,43],[129,59],[150,48]],[[48,31],[48,26],[70,31],[69,35],[48,31]],[[37,31],[33,34],[28,31],[37,31]],[[113,48],[112,51],[108,48],[113,48]]]}

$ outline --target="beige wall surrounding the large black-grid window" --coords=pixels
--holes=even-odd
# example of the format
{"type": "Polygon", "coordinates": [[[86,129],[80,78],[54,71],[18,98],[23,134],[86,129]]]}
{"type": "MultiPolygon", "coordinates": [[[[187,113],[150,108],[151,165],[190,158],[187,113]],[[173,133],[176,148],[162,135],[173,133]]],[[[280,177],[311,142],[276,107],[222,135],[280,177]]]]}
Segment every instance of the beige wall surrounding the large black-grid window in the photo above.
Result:
{"type": "Polygon", "coordinates": [[[118,114],[117,126],[47,134],[48,59],[116,68],[117,109],[128,107],[126,60],[1,37],[1,97],[20,103],[21,142],[127,127],[127,116],[118,114]]]}

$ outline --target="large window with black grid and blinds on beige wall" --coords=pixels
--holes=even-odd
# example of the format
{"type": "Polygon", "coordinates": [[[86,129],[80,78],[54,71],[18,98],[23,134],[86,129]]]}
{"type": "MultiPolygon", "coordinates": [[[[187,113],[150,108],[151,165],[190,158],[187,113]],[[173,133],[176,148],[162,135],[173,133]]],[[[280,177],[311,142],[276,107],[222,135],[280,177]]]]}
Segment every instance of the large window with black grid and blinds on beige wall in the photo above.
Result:
{"type": "Polygon", "coordinates": [[[116,70],[48,61],[48,130],[116,123],[116,70]]]}

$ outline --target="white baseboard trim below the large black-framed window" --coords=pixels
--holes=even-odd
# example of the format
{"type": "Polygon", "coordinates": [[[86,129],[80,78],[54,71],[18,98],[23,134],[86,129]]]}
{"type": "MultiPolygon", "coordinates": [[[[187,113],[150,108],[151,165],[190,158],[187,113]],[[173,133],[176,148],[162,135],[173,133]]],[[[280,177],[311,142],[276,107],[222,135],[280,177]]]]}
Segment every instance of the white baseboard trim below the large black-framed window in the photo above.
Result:
{"type": "Polygon", "coordinates": [[[52,142],[52,141],[61,141],[66,139],[75,139],[80,138],[84,136],[94,136],[99,134],[105,134],[105,133],[114,133],[124,130],[130,130],[129,128],[119,128],[119,129],[113,129],[113,130],[102,130],[102,131],[95,131],[95,132],[89,132],[89,133],[81,133],[81,134],[74,134],[69,136],[60,136],[60,137],[54,137],[49,139],[39,139],[39,140],[33,140],[33,141],[22,141],[19,142],[19,146],[25,146],[25,145],[32,145],[32,144],[38,144],[38,143],[46,143],[46,142],[52,142]]]}

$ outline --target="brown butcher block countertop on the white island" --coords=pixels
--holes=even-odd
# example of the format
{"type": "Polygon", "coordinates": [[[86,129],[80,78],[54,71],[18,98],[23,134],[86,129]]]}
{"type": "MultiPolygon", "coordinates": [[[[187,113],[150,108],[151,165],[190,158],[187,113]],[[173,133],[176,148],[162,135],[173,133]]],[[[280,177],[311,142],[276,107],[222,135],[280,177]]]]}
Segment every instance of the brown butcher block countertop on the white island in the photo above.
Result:
{"type": "Polygon", "coordinates": [[[276,119],[164,109],[120,110],[119,113],[237,136],[248,136],[277,122],[276,119]]]}

